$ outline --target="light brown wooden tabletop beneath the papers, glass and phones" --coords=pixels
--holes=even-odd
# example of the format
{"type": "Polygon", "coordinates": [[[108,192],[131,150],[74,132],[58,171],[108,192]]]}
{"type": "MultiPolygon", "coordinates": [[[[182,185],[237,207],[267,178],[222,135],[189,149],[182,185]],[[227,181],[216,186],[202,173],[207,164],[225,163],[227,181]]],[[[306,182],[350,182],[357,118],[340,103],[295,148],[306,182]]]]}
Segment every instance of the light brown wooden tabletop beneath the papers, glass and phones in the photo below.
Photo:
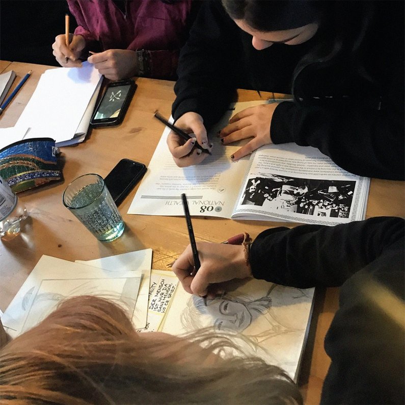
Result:
{"type": "MultiPolygon", "coordinates": [[[[13,88],[29,70],[32,77],[25,83],[13,102],[0,116],[0,128],[13,126],[30,99],[41,73],[50,66],[6,62],[0,71],[13,69],[17,73],[13,88]]],[[[62,193],[69,182],[85,173],[105,176],[122,158],[148,165],[163,131],[153,118],[158,109],[170,116],[174,100],[173,82],[138,78],[137,92],[124,122],[110,129],[93,130],[86,141],[62,148],[64,181],[29,190],[19,198],[30,212],[20,237],[0,244],[0,309],[7,308],[42,255],[65,260],[91,260],[127,251],[151,247],[153,268],[166,266],[188,244],[188,234],[182,217],[128,215],[135,188],[120,206],[126,224],[124,235],[111,243],[98,242],[84,226],[63,206],[62,193]]],[[[12,89],[13,89],[12,88],[12,89]]],[[[12,91],[12,89],[10,91],[12,91]]],[[[269,93],[262,92],[263,98],[269,93]]],[[[255,91],[240,90],[239,100],[259,99],[255,91]]],[[[366,217],[404,216],[403,182],[372,179],[366,217]]],[[[295,226],[292,223],[264,221],[234,221],[219,218],[193,218],[196,240],[221,242],[242,231],[255,237],[273,226],[295,226]]],[[[305,403],[319,403],[323,379],[330,360],[323,349],[323,339],[338,308],[338,289],[318,290],[315,299],[311,332],[304,354],[300,386],[305,403]]]]}

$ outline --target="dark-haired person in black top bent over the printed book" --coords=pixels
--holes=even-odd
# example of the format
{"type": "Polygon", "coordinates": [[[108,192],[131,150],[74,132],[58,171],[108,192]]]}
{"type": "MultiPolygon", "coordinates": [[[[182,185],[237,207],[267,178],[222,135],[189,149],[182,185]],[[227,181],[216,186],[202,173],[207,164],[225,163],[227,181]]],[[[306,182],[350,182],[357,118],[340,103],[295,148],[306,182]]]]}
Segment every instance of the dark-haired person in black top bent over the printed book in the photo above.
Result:
{"type": "MultiPolygon", "coordinates": [[[[205,148],[235,89],[293,94],[245,109],[220,132],[261,145],[313,146],[343,169],[404,178],[404,3],[223,0],[200,8],[181,50],[172,115],[205,148]]],[[[173,132],[178,166],[207,157],[173,132]]]]}

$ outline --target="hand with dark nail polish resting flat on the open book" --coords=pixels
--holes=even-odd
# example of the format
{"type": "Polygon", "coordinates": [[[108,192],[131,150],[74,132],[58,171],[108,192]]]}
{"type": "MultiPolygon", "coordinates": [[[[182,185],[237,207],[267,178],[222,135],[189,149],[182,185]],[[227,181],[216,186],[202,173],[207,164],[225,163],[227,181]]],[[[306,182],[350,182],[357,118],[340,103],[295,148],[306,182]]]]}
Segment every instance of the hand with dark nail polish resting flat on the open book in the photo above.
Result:
{"type": "Polygon", "coordinates": [[[272,103],[249,107],[229,120],[229,124],[219,134],[224,145],[241,139],[253,138],[233,154],[232,160],[239,160],[260,146],[272,143],[270,124],[277,106],[278,103],[272,103]]]}

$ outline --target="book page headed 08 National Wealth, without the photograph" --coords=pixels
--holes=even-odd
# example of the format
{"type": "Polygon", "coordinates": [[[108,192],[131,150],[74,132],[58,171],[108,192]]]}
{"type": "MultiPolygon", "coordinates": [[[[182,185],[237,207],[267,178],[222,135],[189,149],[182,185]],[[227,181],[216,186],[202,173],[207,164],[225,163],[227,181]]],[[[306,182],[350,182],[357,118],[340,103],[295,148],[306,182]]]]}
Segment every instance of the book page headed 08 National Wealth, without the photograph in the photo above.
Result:
{"type": "Polygon", "coordinates": [[[191,215],[230,218],[250,156],[232,162],[230,156],[241,144],[224,146],[214,134],[238,111],[263,103],[236,103],[235,110],[229,110],[211,131],[212,156],[196,166],[177,167],[166,143],[170,132],[166,127],[128,214],[184,215],[180,195],[185,193],[191,215]]]}

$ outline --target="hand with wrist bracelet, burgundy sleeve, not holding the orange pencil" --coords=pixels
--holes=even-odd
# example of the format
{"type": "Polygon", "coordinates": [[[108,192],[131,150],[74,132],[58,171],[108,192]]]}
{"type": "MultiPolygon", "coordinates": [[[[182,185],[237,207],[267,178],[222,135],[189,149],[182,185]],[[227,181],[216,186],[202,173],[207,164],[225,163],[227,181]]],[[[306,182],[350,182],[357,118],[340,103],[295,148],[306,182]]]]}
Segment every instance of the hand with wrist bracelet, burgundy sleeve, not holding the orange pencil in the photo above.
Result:
{"type": "Polygon", "coordinates": [[[108,49],[93,54],[87,61],[110,80],[129,79],[137,74],[138,59],[134,50],[108,49]]]}

